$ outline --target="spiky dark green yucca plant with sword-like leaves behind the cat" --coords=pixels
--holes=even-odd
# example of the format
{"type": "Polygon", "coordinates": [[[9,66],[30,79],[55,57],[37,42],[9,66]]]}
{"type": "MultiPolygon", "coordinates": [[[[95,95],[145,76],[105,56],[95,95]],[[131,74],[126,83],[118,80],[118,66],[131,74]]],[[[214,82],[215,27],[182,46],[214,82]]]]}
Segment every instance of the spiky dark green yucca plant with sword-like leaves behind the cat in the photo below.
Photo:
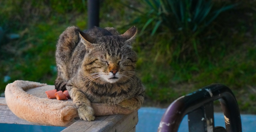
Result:
{"type": "MultiPolygon", "coordinates": [[[[142,12],[134,23],[147,19],[143,31],[153,25],[151,35],[154,35],[161,26],[168,27],[171,32],[200,33],[221,12],[229,10],[236,5],[223,6],[212,10],[211,0],[142,0],[148,10],[142,12]]],[[[164,27],[162,27],[164,28],[164,27]]]]}

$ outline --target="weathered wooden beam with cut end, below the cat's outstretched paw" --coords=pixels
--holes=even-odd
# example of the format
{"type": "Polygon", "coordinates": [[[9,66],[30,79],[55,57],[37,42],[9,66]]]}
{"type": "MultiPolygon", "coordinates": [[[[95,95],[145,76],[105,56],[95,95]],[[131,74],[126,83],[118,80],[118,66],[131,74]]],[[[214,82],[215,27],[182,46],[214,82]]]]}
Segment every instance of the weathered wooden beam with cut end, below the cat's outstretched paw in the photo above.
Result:
{"type": "Polygon", "coordinates": [[[129,132],[138,123],[138,112],[129,115],[98,116],[95,121],[78,120],[62,132],[129,132]]]}

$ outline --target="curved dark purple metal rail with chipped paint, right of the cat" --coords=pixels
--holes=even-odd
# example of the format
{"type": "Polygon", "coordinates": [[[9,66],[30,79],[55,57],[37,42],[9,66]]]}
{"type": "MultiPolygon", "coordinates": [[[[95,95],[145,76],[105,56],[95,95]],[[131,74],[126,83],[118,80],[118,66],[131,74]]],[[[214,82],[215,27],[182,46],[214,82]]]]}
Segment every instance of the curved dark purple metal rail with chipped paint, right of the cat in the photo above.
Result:
{"type": "Polygon", "coordinates": [[[208,85],[175,100],[166,110],[158,132],[178,132],[185,115],[190,132],[242,132],[239,108],[232,91],[222,84],[208,85]],[[219,99],[226,129],[214,127],[213,101],[219,99]]]}

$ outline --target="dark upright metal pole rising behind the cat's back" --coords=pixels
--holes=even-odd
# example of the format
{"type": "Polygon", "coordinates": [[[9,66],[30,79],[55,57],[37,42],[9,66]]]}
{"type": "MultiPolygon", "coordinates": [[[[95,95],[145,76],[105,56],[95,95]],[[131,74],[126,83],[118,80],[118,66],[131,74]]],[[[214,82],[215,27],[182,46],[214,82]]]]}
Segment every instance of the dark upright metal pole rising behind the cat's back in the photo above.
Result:
{"type": "Polygon", "coordinates": [[[88,29],[99,26],[99,0],[88,0],[88,29]]]}

